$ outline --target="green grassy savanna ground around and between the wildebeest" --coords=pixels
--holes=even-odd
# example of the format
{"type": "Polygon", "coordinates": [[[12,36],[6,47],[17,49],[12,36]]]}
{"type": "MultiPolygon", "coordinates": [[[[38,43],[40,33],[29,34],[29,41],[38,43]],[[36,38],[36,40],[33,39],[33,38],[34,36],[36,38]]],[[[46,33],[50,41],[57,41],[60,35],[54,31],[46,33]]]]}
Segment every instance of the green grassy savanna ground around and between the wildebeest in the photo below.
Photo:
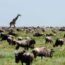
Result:
{"type": "MultiPolygon", "coordinates": [[[[44,34],[50,33],[49,31],[44,32],[44,34]]],[[[53,36],[53,41],[56,38],[63,38],[65,32],[57,31],[57,34],[53,36]]],[[[30,36],[36,40],[35,47],[45,46],[47,48],[53,48],[53,43],[45,44],[44,37],[33,37],[31,33],[18,32],[18,36],[27,37],[30,36]]],[[[40,57],[34,59],[32,65],[65,65],[65,44],[62,47],[55,47],[54,54],[52,58],[45,58],[41,60],[40,57]]],[[[22,50],[22,48],[19,48],[22,50]]],[[[31,49],[29,49],[31,51],[31,49]]],[[[0,65],[21,65],[20,63],[15,63],[15,46],[9,45],[7,41],[0,42],[0,65]]],[[[25,65],[25,64],[24,64],[25,65]]]]}

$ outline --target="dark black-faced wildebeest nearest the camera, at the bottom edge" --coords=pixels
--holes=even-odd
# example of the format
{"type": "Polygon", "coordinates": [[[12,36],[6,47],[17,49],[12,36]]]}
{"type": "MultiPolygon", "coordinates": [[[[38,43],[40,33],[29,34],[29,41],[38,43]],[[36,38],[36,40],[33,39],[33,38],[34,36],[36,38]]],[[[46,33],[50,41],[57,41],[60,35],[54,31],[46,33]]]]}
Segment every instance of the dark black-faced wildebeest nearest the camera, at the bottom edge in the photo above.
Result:
{"type": "Polygon", "coordinates": [[[25,52],[25,51],[15,53],[15,62],[16,63],[21,61],[22,65],[23,65],[23,63],[25,63],[26,65],[31,65],[33,59],[34,59],[34,55],[32,53],[25,52]]]}

